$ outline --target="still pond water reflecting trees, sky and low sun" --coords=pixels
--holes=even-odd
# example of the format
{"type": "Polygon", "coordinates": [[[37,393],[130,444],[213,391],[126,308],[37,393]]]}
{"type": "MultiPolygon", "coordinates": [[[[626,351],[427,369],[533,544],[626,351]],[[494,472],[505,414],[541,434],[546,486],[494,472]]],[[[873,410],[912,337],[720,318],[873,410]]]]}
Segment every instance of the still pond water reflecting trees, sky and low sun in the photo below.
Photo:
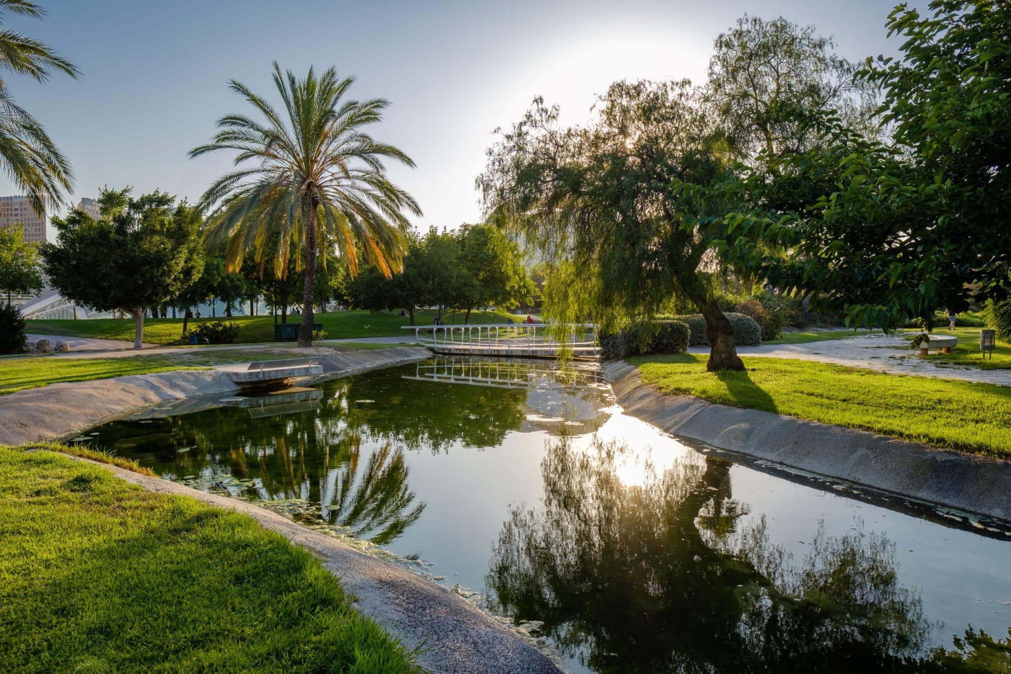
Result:
{"type": "Polygon", "coordinates": [[[415,568],[570,671],[1011,671],[1011,531],[688,447],[590,367],[440,358],[84,439],[415,568]]]}

